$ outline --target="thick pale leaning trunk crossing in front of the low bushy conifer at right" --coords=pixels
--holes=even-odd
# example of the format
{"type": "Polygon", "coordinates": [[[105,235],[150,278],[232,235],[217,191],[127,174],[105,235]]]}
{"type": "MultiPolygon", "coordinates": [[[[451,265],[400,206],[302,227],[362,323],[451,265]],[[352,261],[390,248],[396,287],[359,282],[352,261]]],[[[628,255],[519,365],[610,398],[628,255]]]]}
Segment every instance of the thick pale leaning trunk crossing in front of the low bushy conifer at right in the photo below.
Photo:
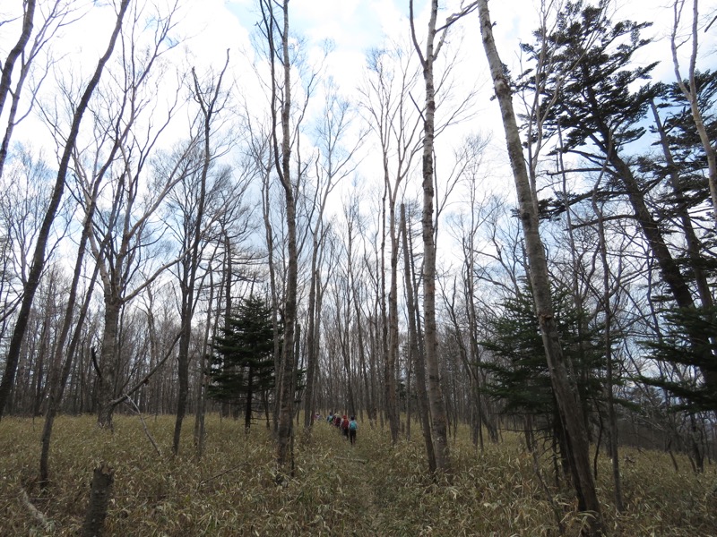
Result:
{"type": "Polygon", "coordinates": [[[582,510],[591,511],[594,519],[589,533],[602,533],[600,501],[592,480],[590,467],[590,444],[587,426],[581,413],[574,381],[567,374],[565,358],[557,337],[550,296],[548,262],[540,241],[539,221],[535,200],[531,192],[528,172],[523,159],[518,125],[515,122],[510,85],[505,78],[503,63],[493,38],[493,25],[488,13],[488,0],[479,0],[480,34],[483,39],[488,65],[493,78],[494,90],[503,115],[505,141],[511,167],[513,168],[515,190],[518,195],[525,248],[530,265],[530,278],[535,308],[540,322],[540,332],[548,360],[550,380],[555,393],[560,420],[569,439],[569,456],[573,466],[574,487],[582,510]]]}

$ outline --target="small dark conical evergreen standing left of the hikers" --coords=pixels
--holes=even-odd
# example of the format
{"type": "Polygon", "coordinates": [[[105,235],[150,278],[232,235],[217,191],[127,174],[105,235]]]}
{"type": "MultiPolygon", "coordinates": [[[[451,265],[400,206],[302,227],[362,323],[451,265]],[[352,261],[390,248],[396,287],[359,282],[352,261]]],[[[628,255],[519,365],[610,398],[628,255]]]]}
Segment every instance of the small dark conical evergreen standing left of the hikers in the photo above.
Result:
{"type": "Polygon", "coordinates": [[[243,405],[245,427],[252,422],[256,394],[274,387],[272,310],[254,295],[229,316],[213,345],[208,396],[230,405],[243,405]]]}

